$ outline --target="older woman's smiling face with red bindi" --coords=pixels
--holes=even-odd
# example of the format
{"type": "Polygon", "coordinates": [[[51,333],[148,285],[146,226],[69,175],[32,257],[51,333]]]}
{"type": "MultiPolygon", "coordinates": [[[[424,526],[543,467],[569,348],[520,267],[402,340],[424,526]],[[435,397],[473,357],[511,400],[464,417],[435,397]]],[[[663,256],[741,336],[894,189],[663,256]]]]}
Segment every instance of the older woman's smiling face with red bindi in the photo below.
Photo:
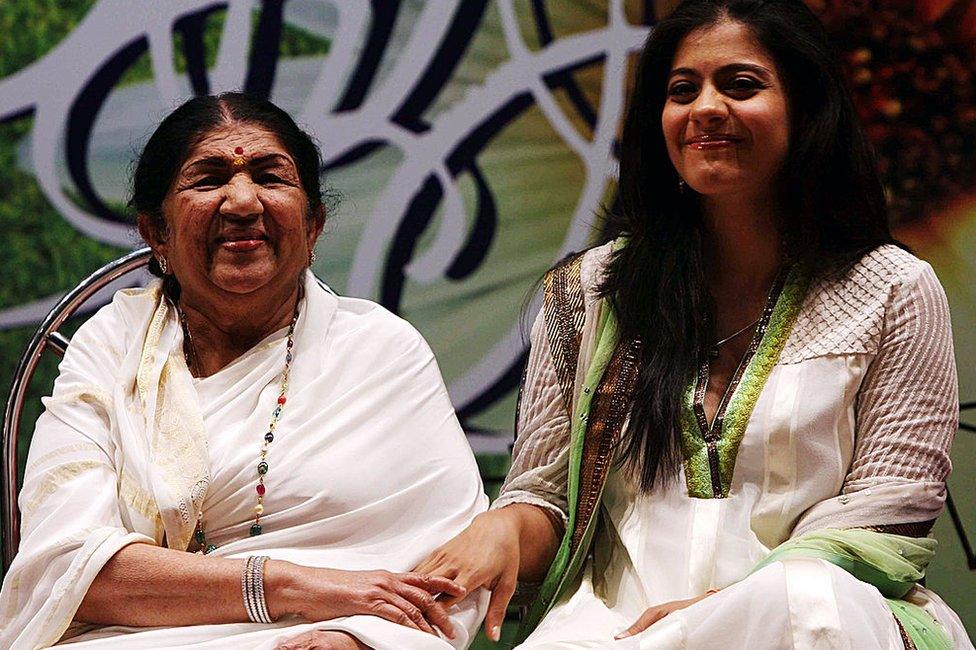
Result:
{"type": "Polygon", "coordinates": [[[295,161],[265,129],[211,131],[180,166],[163,201],[159,248],[184,291],[249,293],[293,285],[321,217],[310,219],[295,161]]]}

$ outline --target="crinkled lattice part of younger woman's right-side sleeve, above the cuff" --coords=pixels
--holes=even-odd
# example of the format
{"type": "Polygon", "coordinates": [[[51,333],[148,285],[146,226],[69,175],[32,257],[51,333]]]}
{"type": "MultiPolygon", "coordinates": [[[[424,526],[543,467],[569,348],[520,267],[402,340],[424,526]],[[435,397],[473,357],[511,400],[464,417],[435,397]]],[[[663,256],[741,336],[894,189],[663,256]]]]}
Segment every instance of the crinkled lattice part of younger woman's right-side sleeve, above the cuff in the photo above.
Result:
{"type": "Polygon", "coordinates": [[[959,394],[949,306],[928,264],[894,290],[855,412],[857,440],[845,494],[892,483],[945,482],[959,394]]]}

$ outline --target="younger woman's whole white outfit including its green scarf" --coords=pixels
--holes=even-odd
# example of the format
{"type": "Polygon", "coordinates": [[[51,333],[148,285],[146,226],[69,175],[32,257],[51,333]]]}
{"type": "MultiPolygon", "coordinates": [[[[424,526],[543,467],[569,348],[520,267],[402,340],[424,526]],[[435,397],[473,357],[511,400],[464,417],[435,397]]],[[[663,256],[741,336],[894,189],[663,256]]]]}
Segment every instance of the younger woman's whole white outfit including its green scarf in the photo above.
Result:
{"type": "MultiPolygon", "coordinates": [[[[594,381],[611,383],[612,365],[596,360],[610,345],[597,333],[612,320],[598,292],[612,247],[580,261],[572,411],[535,399],[568,394],[558,383],[570,373],[552,369],[560,348],[545,336],[550,313],[533,328],[520,438],[492,506],[545,502],[567,521],[521,631],[524,647],[660,649],[721,639],[730,650],[972,648],[952,610],[917,585],[934,552],[924,535],[943,507],[958,417],[948,306],[931,267],[881,246],[795,282],[785,301],[781,294],[790,305],[780,310],[782,327],[766,332],[775,354],[759,359],[757,380],[732,395],[749,408],[726,450],[722,493],[693,489],[686,463],[675,483],[645,494],[616,463],[616,447],[600,444],[607,427],[585,399],[594,381]],[[604,457],[590,458],[587,448],[604,457]],[[588,469],[608,464],[606,473],[588,469]],[[594,501],[595,513],[582,509],[594,501]],[[580,545],[570,553],[573,540],[580,545]],[[648,607],[712,588],[721,591],[613,640],[648,607]],[[757,622],[743,620],[744,611],[757,622]]],[[[626,384],[616,398],[628,402],[626,384]]]]}

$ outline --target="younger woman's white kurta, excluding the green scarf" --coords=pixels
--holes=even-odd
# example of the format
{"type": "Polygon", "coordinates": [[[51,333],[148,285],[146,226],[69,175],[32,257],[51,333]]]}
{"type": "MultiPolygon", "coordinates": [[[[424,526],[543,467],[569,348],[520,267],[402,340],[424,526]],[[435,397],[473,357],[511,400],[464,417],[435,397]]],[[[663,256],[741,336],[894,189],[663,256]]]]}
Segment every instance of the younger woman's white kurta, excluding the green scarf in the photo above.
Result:
{"type": "MultiPolygon", "coordinates": [[[[607,247],[583,260],[579,378],[592,354],[594,287],[607,247]]],[[[569,422],[542,321],[533,330],[513,470],[493,508],[525,502],[566,516],[569,422]]],[[[577,396],[579,384],[577,382],[577,396]]],[[[742,385],[740,385],[740,389],[742,385]]],[[[750,575],[805,532],[934,519],[944,500],[958,402],[948,310],[931,268],[894,247],[847,276],[815,282],[746,426],[727,498],[676,483],[641,495],[613,469],[593,555],[529,636],[543,648],[903,648],[878,590],[822,560],[750,575]],[[645,609],[722,591],[635,637],[613,636],[645,609]]],[[[953,639],[958,617],[916,588],[953,639]]]]}

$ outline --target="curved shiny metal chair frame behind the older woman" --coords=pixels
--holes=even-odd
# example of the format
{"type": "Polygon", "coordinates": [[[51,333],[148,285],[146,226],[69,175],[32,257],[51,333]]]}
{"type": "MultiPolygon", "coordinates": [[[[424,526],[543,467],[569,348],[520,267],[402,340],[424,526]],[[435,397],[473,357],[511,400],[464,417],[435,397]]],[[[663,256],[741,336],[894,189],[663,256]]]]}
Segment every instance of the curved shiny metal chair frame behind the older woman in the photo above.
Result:
{"type": "Polygon", "coordinates": [[[140,248],[109,262],[82,280],[44,317],[17,364],[4,411],[2,432],[3,499],[0,505],[2,505],[3,537],[0,541],[3,546],[4,573],[10,567],[20,547],[20,511],[17,508],[17,434],[20,431],[20,415],[27,397],[27,387],[41,360],[41,354],[50,348],[59,356],[64,356],[69,341],[58,329],[100,290],[122,276],[145,267],[151,255],[148,248],[140,248]]]}

